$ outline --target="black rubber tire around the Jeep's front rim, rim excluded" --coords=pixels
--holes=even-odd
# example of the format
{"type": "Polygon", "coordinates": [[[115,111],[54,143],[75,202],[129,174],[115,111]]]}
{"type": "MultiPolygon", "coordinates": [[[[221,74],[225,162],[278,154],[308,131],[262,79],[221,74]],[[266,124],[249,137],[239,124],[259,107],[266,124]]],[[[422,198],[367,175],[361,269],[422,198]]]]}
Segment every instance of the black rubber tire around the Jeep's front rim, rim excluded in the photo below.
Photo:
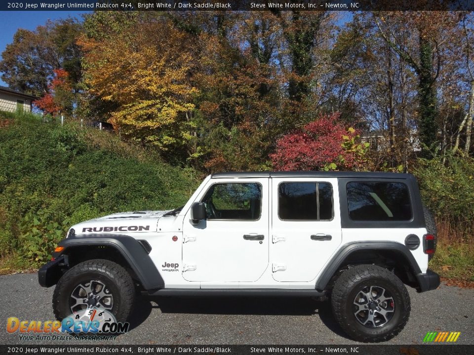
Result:
{"type": "Polygon", "coordinates": [[[63,320],[71,315],[69,306],[71,293],[80,283],[90,280],[98,280],[110,288],[114,300],[112,313],[117,321],[126,321],[135,300],[135,286],[130,274],[123,267],[104,259],[81,262],[59,279],[53,293],[53,311],[56,319],[63,320]]]}

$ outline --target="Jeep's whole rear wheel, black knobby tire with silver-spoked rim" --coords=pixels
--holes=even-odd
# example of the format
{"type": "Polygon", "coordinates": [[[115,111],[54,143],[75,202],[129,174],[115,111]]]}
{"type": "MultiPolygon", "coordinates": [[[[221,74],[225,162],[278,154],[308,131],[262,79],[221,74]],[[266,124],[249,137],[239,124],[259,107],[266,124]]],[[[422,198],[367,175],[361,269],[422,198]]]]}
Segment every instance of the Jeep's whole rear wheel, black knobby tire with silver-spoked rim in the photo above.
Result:
{"type": "Polygon", "coordinates": [[[332,289],[334,317],[361,342],[392,339],[410,316],[410,296],[395,274],[376,265],[358,265],[342,273],[332,289]]]}

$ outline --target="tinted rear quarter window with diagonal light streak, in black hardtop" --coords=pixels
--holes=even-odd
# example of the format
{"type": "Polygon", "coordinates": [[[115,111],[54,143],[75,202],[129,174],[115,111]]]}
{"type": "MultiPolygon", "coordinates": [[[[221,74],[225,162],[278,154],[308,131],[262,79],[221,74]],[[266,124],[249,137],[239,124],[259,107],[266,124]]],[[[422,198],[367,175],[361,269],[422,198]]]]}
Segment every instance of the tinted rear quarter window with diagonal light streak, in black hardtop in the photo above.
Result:
{"type": "Polygon", "coordinates": [[[412,218],[408,187],[401,182],[349,182],[349,217],[359,221],[402,221],[412,218]]]}

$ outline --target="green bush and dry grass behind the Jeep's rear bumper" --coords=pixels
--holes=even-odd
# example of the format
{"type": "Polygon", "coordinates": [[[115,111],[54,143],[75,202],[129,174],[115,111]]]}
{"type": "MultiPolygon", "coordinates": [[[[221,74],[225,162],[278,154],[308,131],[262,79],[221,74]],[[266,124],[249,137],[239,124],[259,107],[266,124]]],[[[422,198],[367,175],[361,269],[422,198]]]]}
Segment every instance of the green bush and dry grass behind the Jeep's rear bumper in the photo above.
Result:
{"type": "Polygon", "coordinates": [[[414,174],[438,229],[430,267],[442,277],[474,281],[474,159],[420,159],[414,174]]]}

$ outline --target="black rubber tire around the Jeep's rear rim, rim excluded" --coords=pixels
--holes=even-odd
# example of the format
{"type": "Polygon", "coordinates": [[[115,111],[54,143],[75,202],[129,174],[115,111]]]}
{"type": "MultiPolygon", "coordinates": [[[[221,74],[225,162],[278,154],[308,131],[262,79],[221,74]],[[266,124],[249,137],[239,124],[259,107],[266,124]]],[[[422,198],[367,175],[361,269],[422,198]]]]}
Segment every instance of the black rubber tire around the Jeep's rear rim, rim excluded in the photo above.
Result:
{"type": "MultiPolygon", "coordinates": [[[[381,342],[392,339],[410,317],[410,296],[395,274],[376,265],[357,265],[341,274],[331,294],[332,311],[341,328],[360,342],[381,342]],[[380,327],[367,327],[357,320],[354,300],[365,287],[377,286],[393,297],[392,318],[380,327]]],[[[375,323],[372,323],[376,325],[375,323]]]]}

